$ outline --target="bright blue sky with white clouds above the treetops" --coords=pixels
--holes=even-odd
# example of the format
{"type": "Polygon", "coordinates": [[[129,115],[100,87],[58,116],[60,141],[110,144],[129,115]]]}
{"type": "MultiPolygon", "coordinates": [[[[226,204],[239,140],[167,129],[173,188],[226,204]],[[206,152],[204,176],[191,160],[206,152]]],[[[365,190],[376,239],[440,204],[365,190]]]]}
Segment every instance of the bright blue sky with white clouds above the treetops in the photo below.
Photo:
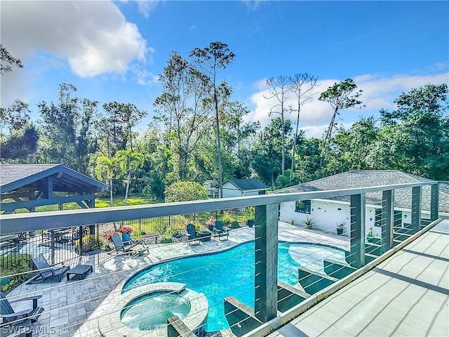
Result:
{"type": "MultiPolygon", "coordinates": [[[[308,72],[325,91],[352,78],[363,89],[359,116],[394,109],[394,98],[428,83],[448,82],[447,1],[1,1],[1,43],[24,68],[1,78],[1,106],[16,98],[36,111],[58,99],[58,84],[81,98],[134,103],[152,116],[157,75],[172,51],[222,41],[236,54],[220,72],[248,120],[269,123],[267,77],[308,72]]],[[[101,111],[101,110],[100,110],[101,111]]],[[[304,106],[300,126],[321,136],[332,109],[304,106]]],[[[37,117],[34,117],[37,118],[37,117]]]]}

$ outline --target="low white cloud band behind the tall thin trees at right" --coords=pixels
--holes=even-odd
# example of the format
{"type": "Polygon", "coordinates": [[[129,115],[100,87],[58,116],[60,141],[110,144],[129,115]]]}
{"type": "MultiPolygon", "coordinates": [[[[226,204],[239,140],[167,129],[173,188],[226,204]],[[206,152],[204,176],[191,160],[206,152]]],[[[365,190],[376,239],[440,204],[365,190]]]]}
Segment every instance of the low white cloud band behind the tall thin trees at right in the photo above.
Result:
{"type": "MultiPolygon", "coordinates": [[[[397,74],[393,76],[387,76],[384,74],[363,74],[358,77],[354,77],[359,89],[363,90],[361,95],[361,101],[365,108],[361,110],[343,110],[339,123],[342,123],[345,127],[351,126],[351,122],[357,119],[359,115],[371,116],[377,113],[381,108],[387,110],[393,110],[396,108],[394,100],[402,92],[410,91],[412,88],[418,88],[425,84],[441,84],[447,83],[449,74],[433,74],[433,75],[414,75],[397,74]]],[[[335,82],[342,81],[344,79],[324,79],[319,81],[319,87],[316,91],[319,93],[326,91],[329,86],[332,86],[335,82]]],[[[260,121],[262,128],[267,126],[270,121],[279,114],[272,114],[269,116],[269,111],[272,107],[279,102],[274,98],[267,100],[264,97],[269,97],[269,91],[265,85],[265,80],[260,80],[255,83],[257,92],[251,95],[250,103],[255,106],[252,112],[247,117],[248,121],[260,121]]],[[[318,100],[319,95],[314,96],[301,108],[300,114],[300,128],[305,131],[307,137],[321,137],[326,130],[330,119],[333,115],[333,109],[328,103],[318,100]]],[[[293,105],[295,108],[295,98],[290,97],[287,100],[286,106],[293,105]]],[[[295,113],[286,114],[286,118],[291,121],[295,121],[295,113]]]]}

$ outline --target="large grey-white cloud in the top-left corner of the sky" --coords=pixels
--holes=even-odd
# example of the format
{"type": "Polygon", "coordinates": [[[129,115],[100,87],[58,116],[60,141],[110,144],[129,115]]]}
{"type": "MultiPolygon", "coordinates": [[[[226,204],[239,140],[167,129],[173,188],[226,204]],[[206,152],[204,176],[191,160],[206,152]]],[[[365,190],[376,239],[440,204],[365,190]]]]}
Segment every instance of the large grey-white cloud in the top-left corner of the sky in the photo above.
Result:
{"type": "Polygon", "coordinates": [[[2,44],[25,66],[41,51],[67,59],[79,77],[123,75],[149,53],[112,1],[2,1],[1,26],[2,44]]]}

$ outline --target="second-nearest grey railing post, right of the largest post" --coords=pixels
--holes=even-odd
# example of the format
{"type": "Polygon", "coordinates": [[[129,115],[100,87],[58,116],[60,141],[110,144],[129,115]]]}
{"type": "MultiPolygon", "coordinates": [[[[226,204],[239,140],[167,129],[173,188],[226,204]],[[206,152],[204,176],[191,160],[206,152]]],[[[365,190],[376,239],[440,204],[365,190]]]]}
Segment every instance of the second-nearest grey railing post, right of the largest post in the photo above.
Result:
{"type": "Polygon", "coordinates": [[[349,264],[360,268],[365,265],[365,194],[351,195],[351,253],[349,264]]]}

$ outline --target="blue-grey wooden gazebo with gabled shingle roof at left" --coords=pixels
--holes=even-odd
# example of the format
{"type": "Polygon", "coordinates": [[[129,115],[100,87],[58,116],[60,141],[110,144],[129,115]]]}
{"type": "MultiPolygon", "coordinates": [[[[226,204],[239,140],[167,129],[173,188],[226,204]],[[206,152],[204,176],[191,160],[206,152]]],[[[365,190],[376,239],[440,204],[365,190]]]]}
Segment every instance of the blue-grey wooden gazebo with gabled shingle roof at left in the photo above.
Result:
{"type": "Polygon", "coordinates": [[[95,207],[95,193],[112,187],[62,164],[0,164],[0,211],[36,211],[36,206],[76,202],[83,209],[95,207]],[[7,200],[5,202],[5,200],[7,200]],[[12,201],[13,200],[13,201],[12,201]]]}

